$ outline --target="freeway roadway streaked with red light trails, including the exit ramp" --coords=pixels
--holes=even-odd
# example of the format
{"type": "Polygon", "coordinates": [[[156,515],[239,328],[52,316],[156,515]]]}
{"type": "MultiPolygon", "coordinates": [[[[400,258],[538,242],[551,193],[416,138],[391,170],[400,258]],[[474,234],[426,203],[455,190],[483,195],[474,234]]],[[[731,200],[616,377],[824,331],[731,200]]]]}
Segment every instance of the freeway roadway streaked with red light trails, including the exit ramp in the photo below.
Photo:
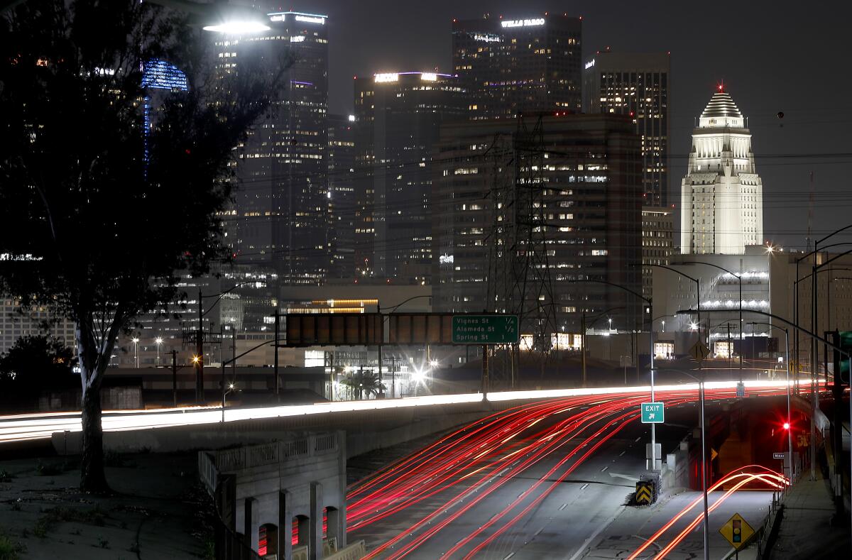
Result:
{"type": "MultiPolygon", "coordinates": [[[[693,505],[675,517],[699,493],[654,506],[652,523],[621,518],[631,509],[625,501],[632,477],[644,468],[647,436],[637,422],[643,397],[621,392],[555,398],[465,426],[354,484],[348,490],[350,539],[366,540],[371,558],[517,560],[625,557],[653,536],[659,544],[633,557],[654,557],[660,550],[666,554],[656,557],[676,557],[681,549],[688,556],[700,508],[693,505]],[[668,532],[653,534],[669,519],[674,521],[668,532]],[[689,529],[679,534],[683,526],[689,529]],[[647,535],[637,536],[639,528],[647,535]]],[[[695,397],[694,391],[661,395],[671,407],[695,397]]],[[[734,397],[734,391],[714,389],[707,397],[718,401],[734,397]]],[[[777,479],[768,484],[779,485],[777,479]]],[[[744,493],[720,491],[712,494],[711,507],[722,500],[719,511],[740,507],[743,515],[755,517],[765,510],[768,495],[743,499],[744,493]]],[[[721,525],[718,517],[711,517],[711,526],[721,525]]]]}

